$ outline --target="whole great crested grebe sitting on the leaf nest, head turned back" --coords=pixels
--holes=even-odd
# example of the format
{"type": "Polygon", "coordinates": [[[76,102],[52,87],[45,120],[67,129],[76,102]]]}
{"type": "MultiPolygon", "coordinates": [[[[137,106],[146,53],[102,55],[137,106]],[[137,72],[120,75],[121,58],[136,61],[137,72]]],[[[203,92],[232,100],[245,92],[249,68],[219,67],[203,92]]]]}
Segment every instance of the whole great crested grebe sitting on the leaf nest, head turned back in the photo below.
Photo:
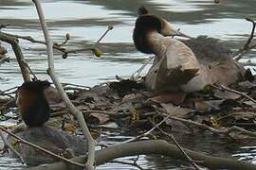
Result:
{"type": "Polygon", "coordinates": [[[146,87],[155,92],[202,90],[208,84],[229,85],[245,69],[229,56],[229,50],[215,39],[198,37],[181,42],[167,36],[184,35],[166,20],[138,9],[133,39],[137,50],[155,54],[145,78],[146,87]]]}

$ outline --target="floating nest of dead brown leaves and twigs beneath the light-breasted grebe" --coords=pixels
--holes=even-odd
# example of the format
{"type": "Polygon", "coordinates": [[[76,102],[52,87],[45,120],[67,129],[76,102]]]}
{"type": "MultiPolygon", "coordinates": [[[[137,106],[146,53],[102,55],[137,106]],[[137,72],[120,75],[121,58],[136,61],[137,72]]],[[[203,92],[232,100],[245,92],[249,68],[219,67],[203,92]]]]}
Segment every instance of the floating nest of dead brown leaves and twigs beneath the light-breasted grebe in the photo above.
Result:
{"type": "Polygon", "coordinates": [[[152,93],[143,83],[121,79],[69,96],[95,131],[101,127],[141,132],[166,119],[160,124],[166,132],[204,129],[233,139],[256,137],[253,81],[230,87],[212,85],[197,93],[152,93]]]}

